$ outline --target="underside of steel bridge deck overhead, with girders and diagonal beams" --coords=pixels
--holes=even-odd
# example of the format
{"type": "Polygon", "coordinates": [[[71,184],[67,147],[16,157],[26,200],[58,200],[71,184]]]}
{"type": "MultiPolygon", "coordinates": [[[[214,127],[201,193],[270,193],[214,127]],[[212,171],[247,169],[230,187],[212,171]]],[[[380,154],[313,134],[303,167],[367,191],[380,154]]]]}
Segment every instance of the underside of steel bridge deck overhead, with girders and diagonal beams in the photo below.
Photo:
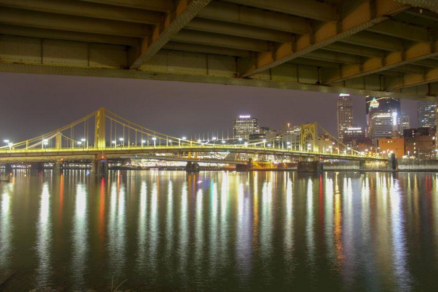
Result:
{"type": "Polygon", "coordinates": [[[0,0],[0,71],[438,100],[435,0],[0,0]]]}

